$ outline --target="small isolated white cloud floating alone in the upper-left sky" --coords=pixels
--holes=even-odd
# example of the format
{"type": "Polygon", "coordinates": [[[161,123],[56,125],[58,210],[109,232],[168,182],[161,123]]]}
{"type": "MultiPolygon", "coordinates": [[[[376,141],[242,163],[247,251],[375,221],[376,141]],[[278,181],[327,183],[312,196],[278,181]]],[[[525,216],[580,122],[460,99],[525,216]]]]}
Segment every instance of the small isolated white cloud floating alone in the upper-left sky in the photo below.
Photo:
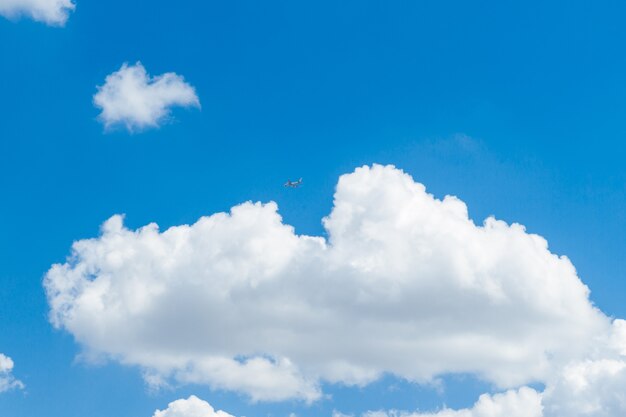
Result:
{"type": "Polygon", "coordinates": [[[183,77],[173,72],[151,77],[140,62],[124,64],[107,76],[93,101],[106,127],[122,125],[130,131],[159,127],[172,107],[200,106],[195,89],[183,77]]]}

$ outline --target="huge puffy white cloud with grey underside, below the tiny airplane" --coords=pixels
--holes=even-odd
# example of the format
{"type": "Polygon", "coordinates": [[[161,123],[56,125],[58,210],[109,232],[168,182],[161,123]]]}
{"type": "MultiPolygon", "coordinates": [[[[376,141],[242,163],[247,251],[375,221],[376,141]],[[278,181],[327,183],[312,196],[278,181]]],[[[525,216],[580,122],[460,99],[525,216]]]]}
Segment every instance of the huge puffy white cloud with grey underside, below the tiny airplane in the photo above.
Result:
{"type": "Polygon", "coordinates": [[[311,401],[320,381],[384,372],[517,388],[609,344],[611,321],[545,239],[494,218],[475,225],[458,198],[394,167],[342,176],[324,226],[327,239],[297,235],[274,203],[163,232],[114,216],[48,271],[51,321],[151,383],[254,400],[311,401]]]}

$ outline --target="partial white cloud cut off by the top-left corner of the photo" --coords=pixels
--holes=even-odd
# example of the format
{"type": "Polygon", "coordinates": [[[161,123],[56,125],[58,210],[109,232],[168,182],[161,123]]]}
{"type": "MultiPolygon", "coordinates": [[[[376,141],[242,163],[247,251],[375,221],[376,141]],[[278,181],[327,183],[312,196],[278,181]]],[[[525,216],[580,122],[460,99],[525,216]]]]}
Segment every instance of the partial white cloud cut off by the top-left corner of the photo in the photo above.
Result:
{"type": "Polygon", "coordinates": [[[0,15],[8,18],[28,16],[53,26],[63,26],[74,10],[72,0],[0,0],[0,15]]]}

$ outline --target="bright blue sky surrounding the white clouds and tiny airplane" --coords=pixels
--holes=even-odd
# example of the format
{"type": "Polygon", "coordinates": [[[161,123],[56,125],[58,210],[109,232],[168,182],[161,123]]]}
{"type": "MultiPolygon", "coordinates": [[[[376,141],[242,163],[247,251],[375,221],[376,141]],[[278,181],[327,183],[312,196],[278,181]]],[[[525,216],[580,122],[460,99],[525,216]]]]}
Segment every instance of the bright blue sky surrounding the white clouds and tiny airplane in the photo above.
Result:
{"type": "Polygon", "coordinates": [[[374,163],[457,196],[476,224],[494,215],[545,237],[605,315],[626,317],[625,13],[609,1],[78,0],[64,27],[0,18],[0,353],[25,386],[0,394],[0,415],[151,417],[192,394],[235,416],[361,415],[502,392],[471,373],[437,387],[387,373],[323,382],[312,404],[152,389],[138,364],[77,359],[84,346],[48,320],[47,271],[114,214],[165,230],[275,201],[298,234],[325,236],[339,176],[374,163]],[[106,128],[97,86],[138,61],[184,77],[201,106],[106,128]]]}

